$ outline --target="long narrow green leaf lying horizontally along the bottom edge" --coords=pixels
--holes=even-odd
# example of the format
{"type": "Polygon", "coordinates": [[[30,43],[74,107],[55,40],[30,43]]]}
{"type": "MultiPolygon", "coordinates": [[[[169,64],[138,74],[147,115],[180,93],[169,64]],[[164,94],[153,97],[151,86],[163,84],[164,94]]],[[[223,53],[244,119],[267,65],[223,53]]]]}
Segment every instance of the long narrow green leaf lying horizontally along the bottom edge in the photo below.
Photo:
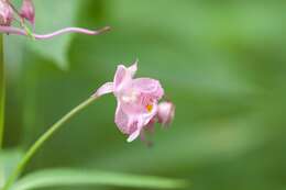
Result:
{"type": "Polygon", "coordinates": [[[152,189],[176,189],[186,187],[186,182],[183,180],[161,177],[74,169],[48,169],[28,175],[23,179],[20,179],[13,186],[12,190],[99,185],[152,189]]]}

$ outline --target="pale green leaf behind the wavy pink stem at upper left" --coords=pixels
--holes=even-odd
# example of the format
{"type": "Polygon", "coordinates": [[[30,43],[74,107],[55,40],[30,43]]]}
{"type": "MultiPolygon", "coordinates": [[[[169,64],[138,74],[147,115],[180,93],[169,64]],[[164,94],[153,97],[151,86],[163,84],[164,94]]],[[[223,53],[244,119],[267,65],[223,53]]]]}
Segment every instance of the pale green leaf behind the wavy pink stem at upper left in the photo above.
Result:
{"type": "MultiPolygon", "coordinates": [[[[76,12],[79,8],[79,0],[50,0],[35,1],[36,8],[36,33],[50,33],[62,27],[76,24],[76,12]],[[64,12],[63,12],[64,11],[64,12]]],[[[62,69],[68,67],[67,52],[73,34],[54,37],[47,41],[28,41],[28,46],[53,60],[62,69]]]]}

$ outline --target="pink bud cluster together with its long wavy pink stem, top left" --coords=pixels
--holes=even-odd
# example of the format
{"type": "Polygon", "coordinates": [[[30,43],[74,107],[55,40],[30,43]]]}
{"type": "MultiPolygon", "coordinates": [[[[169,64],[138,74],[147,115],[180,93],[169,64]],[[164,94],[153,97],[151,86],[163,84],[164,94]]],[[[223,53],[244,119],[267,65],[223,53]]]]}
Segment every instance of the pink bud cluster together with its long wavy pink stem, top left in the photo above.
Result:
{"type": "Polygon", "coordinates": [[[110,30],[109,26],[102,27],[97,31],[81,27],[65,27],[48,34],[36,34],[26,26],[25,21],[30,22],[34,27],[35,8],[32,0],[22,0],[22,7],[20,11],[15,9],[10,0],[0,0],[0,33],[25,35],[36,40],[47,40],[65,33],[98,35],[110,30]],[[20,23],[21,27],[12,26],[13,21],[20,23]]]}

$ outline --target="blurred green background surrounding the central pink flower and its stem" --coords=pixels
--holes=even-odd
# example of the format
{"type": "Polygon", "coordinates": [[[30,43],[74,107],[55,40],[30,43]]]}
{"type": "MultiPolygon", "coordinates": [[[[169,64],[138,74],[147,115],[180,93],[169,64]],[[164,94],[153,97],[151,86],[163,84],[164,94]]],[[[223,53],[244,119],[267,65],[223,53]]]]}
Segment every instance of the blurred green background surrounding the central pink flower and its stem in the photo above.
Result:
{"type": "MultiPolygon", "coordinates": [[[[125,142],[100,99],[37,153],[26,172],[79,167],[184,178],[196,190],[286,188],[284,0],[36,0],[36,32],[112,31],[37,42],[6,36],[6,147],[28,148],[113,78],[118,64],[162,81],[176,104],[154,146],[125,142]]],[[[73,189],[73,188],[61,188],[73,189]]],[[[78,189],[78,188],[74,188],[78,189]]],[[[88,189],[112,189],[91,188],[88,189]]]]}

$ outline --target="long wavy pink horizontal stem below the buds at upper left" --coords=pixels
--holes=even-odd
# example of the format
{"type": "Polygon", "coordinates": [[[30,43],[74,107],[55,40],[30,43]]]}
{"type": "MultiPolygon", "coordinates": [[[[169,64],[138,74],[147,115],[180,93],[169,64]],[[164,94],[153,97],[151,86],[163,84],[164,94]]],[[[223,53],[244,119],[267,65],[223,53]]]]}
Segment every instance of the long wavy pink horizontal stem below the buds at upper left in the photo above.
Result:
{"type": "MultiPolygon", "coordinates": [[[[66,33],[81,33],[81,34],[87,34],[87,35],[98,35],[103,32],[109,31],[111,27],[110,26],[105,26],[102,29],[99,29],[97,31],[91,31],[82,27],[65,27],[48,34],[35,34],[32,33],[32,36],[35,40],[48,40],[57,35],[63,35],[66,33]]],[[[7,34],[15,34],[15,35],[25,35],[29,36],[29,33],[25,30],[19,29],[19,27],[13,27],[13,26],[0,26],[0,33],[7,33],[7,34]]]]}

